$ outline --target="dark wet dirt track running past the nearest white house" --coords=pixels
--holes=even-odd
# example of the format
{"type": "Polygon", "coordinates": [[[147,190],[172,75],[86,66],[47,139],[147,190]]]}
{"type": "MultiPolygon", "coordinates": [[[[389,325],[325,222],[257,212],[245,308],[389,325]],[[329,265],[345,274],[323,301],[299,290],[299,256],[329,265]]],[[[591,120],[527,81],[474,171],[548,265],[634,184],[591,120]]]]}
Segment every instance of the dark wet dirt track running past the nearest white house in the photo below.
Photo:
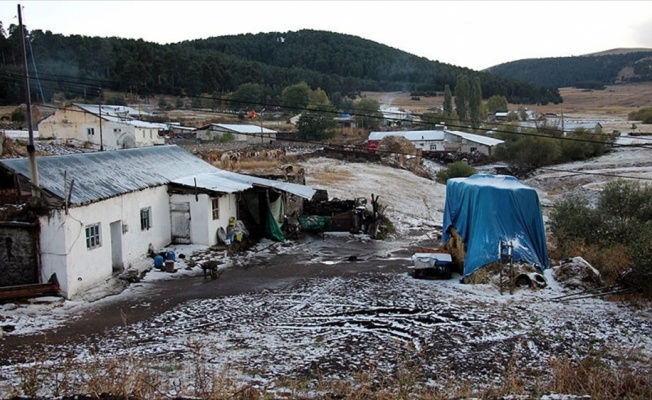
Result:
{"type": "MultiPolygon", "coordinates": [[[[257,293],[293,286],[308,278],[350,276],[382,269],[406,272],[415,246],[432,246],[423,232],[415,237],[376,241],[360,237],[351,239],[333,235],[302,234],[300,240],[288,242],[285,254],[274,257],[236,256],[234,266],[220,271],[215,280],[205,277],[199,268],[192,276],[155,282],[135,283],[130,296],[112,296],[88,304],[55,331],[16,336],[5,335],[0,342],[0,365],[20,362],[39,349],[51,346],[74,346],[98,342],[116,328],[144,322],[188,301],[257,293]],[[317,259],[318,262],[315,262],[317,259]]],[[[156,273],[156,272],[151,272],[156,273]]]]}

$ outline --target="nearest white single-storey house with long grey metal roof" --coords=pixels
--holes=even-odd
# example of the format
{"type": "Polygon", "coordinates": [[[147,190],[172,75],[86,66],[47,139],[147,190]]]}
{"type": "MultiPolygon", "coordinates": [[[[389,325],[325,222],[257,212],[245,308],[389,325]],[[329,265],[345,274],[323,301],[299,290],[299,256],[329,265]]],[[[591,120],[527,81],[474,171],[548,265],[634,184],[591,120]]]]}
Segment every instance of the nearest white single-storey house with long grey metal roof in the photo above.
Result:
{"type": "MultiPolygon", "coordinates": [[[[31,197],[30,202],[38,204],[38,240],[32,247],[39,265],[34,274],[38,282],[32,283],[56,274],[67,298],[138,260],[150,244],[214,245],[218,229],[226,228],[230,217],[246,221],[250,231],[256,221],[264,225],[260,214],[271,207],[261,199],[269,199],[270,193],[286,200],[310,199],[315,193],[304,185],[222,171],[167,145],[40,157],[37,168],[40,200],[31,197]],[[255,207],[239,198],[255,200],[255,207]]],[[[17,195],[30,195],[26,158],[0,160],[0,172],[5,191],[15,182],[17,195]]],[[[5,227],[7,237],[12,236],[10,228],[23,229],[5,227]]],[[[0,241],[4,245],[6,240],[0,241]]]]}

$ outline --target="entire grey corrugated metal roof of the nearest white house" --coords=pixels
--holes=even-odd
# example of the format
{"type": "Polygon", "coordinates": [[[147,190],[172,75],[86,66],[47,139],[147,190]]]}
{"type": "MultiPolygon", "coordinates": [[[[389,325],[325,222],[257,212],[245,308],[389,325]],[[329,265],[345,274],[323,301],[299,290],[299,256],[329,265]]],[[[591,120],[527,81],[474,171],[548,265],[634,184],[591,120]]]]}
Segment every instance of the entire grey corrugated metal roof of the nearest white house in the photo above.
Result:
{"type": "MultiPolygon", "coordinates": [[[[0,164],[30,177],[27,158],[3,159],[0,164]]],[[[71,205],[92,203],[170,182],[194,186],[194,178],[197,178],[198,187],[223,193],[243,191],[254,184],[304,198],[311,198],[315,193],[308,186],[220,170],[177,146],[39,157],[37,167],[40,186],[61,199],[65,198],[64,187],[69,188],[72,180],[75,181],[71,205]]]]}

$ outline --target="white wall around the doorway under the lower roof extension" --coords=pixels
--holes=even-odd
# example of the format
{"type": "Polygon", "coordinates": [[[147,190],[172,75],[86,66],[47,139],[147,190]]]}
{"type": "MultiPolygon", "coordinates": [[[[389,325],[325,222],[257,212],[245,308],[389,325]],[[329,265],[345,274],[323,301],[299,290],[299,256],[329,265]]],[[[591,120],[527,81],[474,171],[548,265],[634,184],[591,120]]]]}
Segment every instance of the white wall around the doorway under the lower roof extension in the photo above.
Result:
{"type": "Polygon", "coordinates": [[[226,230],[229,217],[237,218],[237,198],[235,194],[227,194],[219,199],[219,218],[213,219],[214,197],[199,194],[173,194],[171,203],[190,203],[190,241],[194,244],[213,246],[217,244],[217,229],[226,230]]]}

